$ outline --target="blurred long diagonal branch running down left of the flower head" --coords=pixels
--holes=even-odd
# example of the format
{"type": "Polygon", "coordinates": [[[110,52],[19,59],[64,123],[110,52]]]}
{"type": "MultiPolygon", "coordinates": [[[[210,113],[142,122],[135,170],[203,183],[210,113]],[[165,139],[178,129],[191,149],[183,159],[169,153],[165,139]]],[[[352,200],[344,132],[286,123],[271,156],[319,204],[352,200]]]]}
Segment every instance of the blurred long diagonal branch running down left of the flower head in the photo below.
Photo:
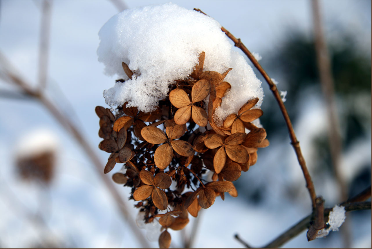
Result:
{"type": "Polygon", "coordinates": [[[60,111],[60,109],[58,109],[51,101],[49,101],[48,98],[46,98],[42,92],[32,89],[29,83],[27,83],[26,81],[24,81],[17,75],[13,74],[7,68],[10,66],[10,64],[6,60],[6,58],[3,56],[2,53],[0,53],[0,66],[2,67],[1,73],[6,74],[7,78],[9,78],[11,82],[19,86],[26,94],[39,100],[40,103],[44,105],[44,107],[47,108],[47,110],[52,114],[52,116],[68,132],[71,133],[73,138],[78,142],[78,144],[80,144],[81,148],[83,148],[83,150],[86,152],[88,158],[92,161],[94,167],[96,168],[95,172],[100,176],[100,178],[105,183],[106,187],[108,188],[110,194],[113,197],[113,200],[115,201],[117,207],[119,208],[120,213],[122,214],[123,218],[129,223],[129,226],[132,228],[132,231],[134,235],[137,237],[138,242],[141,243],[143,248],[150,248],[150,245],[148,244],[147,239],[144,237],[142,232],[139,230],[140,228],[138,228],[131,214],[129,214],[129,212],[127,211],[128,208],[126,207],[126,204],[123,201],[121,195],[119,194],[119,192],[116,190],[115,186],[113,185],[112,180],[102,173],[102,163],[100,162],[100,159],[97,157],[96,152],[94,151],[94,149],[90,147],[89,143],[83,137],[83,135],[78,130],[78,128],[68,119],[67,116],[65,116],[60,111]]]}

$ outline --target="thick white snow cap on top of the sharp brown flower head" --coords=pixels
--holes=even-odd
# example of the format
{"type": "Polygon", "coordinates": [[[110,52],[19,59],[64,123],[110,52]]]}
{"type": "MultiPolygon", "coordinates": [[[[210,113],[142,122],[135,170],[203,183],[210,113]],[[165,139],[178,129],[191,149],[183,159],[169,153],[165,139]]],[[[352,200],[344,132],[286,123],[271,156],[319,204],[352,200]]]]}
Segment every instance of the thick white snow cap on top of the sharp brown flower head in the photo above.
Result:
{"type": "Polygon", "coordinates": [[[211,17],[176,4],[146,6],[124,10],[113,16],[99,31],[98,60],[105,64],[107,75],[116,75],[117,82],[103,95],[111,106],[137,106],[154,110],[158,101],[167,96],[176,79],[186,79],[205,52],[204,70],[219,73],[233,68],[225,81],[231,90],[217,110],[219,119],[237,113],[248,100],[263,100],[261,81],[246,60],[232,50],[232,44],[211,17]],[[134,72],[128,79],[122,62],[134,72]]]}

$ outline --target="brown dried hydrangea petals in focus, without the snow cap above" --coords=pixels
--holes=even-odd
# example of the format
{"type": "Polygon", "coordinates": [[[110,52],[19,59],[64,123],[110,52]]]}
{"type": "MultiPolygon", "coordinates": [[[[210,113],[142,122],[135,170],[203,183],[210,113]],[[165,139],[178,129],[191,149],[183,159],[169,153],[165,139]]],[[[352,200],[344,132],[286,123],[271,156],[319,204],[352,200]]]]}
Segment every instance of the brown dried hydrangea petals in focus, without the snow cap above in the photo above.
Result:
{"type": "MultiPolygon", "coordinates": [[[[145,222],[160,217],[160,248],[170,246],[167,229],[184,228],[188,213],[196,217],[216,196],[224,199],[225,192],[236,197],[232,182],[256,163],[257,148],[269,145],[265,129],[250,123],[263,114],[251,109],[258,98],[229,115],[222,126],[215,124],[214,111],[231,88],[224,81],[231,69],[203,72],[204,58],[202,52],[189,79],[175,81],[152,113],[124,104],[114,116],[108,108],[96,107],[104,139],[99,148],[111,153],[104,173],[125,163],[112,178],[132,188],[131,199],[140,201],[135,206],[145,212],[145,222]]],[[[124,62],[122,66],[131,78],[133,72],[124,62]]]]}

